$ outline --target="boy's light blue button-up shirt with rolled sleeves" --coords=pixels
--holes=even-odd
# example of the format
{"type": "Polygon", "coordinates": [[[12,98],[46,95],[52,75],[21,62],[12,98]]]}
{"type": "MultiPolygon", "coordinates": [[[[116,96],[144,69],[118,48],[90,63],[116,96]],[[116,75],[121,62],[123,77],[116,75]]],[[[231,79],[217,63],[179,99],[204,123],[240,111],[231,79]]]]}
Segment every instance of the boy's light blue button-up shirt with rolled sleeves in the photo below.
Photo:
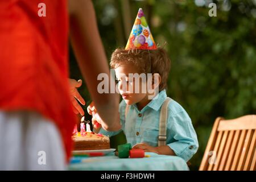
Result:
{"type": "MultiPolygon", "coordinates": [[[[166,90],[162,90],[158,98],[151,100],[141,111],[138,110],[136,104],[131,105],[126,118],[126,103],[124,100],[120,102],[121,130],[126,135],[127,143],[131,143],[131,146],[137,143],[147,143],[153,147],[158,146],[160,110],[166,97],[166,90]]],[[[112,137],[121,130],[108,132],[101,129],[100,133],[112,137]]],[[[199,147],[191,118],[183,107],[174,100],[171,100],[168,105],[166,144],[185,161],[191,159],[199,147]]]]}

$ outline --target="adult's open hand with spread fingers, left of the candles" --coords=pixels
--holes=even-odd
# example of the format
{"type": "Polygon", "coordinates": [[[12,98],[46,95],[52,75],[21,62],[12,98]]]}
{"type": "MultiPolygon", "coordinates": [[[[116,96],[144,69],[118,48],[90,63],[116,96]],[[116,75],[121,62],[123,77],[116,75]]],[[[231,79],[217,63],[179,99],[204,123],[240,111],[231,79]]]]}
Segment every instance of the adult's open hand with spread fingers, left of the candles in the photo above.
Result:
{"type": "Polygon", "coordinates": [[[84,110],[82,110],[82,107],[79,105],[77,100],[82,104],[85,105],[84,98],[80,95],[80,93],[77,91],[77,88],[79,88],[82,85],[82,80],[74,80],[69,78],[69,88],[70,88],[70,94],[71,94],[71,101],[73,104],[73,111],[76,114],[84,115],[84,110]]]}

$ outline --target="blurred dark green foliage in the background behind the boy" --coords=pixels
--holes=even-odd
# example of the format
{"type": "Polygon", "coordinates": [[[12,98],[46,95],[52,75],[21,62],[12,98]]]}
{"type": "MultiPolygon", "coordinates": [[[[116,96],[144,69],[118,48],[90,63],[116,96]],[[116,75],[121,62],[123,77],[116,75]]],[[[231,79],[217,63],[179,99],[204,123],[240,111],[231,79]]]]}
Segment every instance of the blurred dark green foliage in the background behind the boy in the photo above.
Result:
{"type": "MultiPolygon", "coordinates": [[[[191,159],[197,170],[214,119],[226,119],[256,110],[256,1],[207,0],[95,0],[98,27],[106,55],[125,47],[139,7],[146,15],[155,42],[167,49],[171,72],[167,94],[188,112],[199,139],[191,159]],[[217,5],[210,17],[209,3],[217,5]]],[[[89,23],[89,22],[88,22],[89,23]]],[[[70,51],[71,78],[82,78],[70,51]]],[[[86,106],[86,86],[79,89],[86,106]]],[[[83,106],[86,111],[86,106],[83,106]]],[[[87,119],[90,116],[86,115],[87,119]]],[[[123,134],[111,146],[125,143],[123,134]]]]}

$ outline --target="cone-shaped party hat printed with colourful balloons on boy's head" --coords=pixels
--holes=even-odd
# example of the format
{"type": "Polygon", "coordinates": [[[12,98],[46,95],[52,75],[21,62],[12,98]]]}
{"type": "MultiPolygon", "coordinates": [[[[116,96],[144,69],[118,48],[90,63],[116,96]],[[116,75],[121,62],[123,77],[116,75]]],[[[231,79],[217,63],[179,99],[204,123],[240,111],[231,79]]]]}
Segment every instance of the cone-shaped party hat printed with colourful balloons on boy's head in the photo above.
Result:
{"type": "Polygon", "coordinates": [[[156,49],[156,44],[140,8],[125,49],[156,49]]]}

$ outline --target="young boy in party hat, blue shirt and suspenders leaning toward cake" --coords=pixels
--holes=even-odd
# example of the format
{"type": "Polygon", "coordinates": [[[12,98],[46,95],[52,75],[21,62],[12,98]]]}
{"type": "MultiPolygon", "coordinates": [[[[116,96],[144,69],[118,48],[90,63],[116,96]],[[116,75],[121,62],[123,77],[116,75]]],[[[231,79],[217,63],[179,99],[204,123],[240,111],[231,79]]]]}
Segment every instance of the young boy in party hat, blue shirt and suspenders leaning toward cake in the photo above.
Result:
{"type": "MultiPolygon", "coordinates": [[[[137,19],[141,20],[143,12],[140,12],[141,9],[137,19]]],[[[135,20],[135,23],[136,21],[142,22],[135,20]]],[[[150,32],[148,26],[146,28],[150,32]]],[[[177,155],[188,161],[196,153],[199,144],[187,112],[166,95],[170,59],[163,48],[156,48],[152,36],[148,36],[151,40],[145,41],[148,44],[145,45],[144,42],[137,45],[139,35],[137,32],[132,31],[126,49],[115,49],[110,62],[110,67],[115,69],[118,90],[123,98],[119,104],[119,121],[127,143],[131,143],[133,148],[142,148],[146,152],[177,155]],[[153,43],[151,46],[150,41],[153,43]],[[147,77],[146,80],[142,78],[139,80],[139,93],[134,93],[138,85],[135,79],[129,79],[131,73],[144,73],[147,76],[148,73],[152,74],[152,77],[147,77]],[[145,85],[150,85],[151,88],[143,92],[142,88],[145,85]]],[[[88,107],[88,112],[93,115],[93,123],[104,122],[97,115],[93,104],[88,107]]],[[[120,131],[108,132],[101,129],[99,133],[111,137],[120,131]]]]}

